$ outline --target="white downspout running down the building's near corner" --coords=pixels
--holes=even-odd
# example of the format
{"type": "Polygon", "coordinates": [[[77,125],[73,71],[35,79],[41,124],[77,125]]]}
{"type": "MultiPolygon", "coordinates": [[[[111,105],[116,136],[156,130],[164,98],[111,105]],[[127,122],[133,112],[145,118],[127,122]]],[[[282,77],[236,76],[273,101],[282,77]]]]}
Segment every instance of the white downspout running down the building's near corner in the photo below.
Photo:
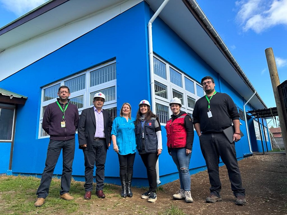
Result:
{"type": "MultiPolygon", "coordinates": [[[[150,59],[150,93],[151,93],[151,108],[152,112],[156,113],[156,99],[154,94],[154,53],[152,49],[152,23],[158,17],[158,14],[162,11],[165,5],[168,3],[169,0],[164,0],[164,2],[160,5],[157,11],[154,13],[150,21],[148,21],[148,54],[150,59]]],[[[159,176],[159,167],[158,161],[156,162],[156,183],[159,185],[160,176],[159,176]]]]}

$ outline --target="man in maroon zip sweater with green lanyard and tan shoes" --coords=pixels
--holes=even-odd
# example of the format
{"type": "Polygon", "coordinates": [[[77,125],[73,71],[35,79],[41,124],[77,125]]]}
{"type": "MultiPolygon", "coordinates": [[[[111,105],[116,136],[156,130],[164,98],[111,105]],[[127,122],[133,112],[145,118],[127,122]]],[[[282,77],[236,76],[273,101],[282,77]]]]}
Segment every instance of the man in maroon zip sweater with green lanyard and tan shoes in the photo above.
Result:
{"type": "Polygon", "coordinates": [[[79,112],[77,106],[69,102],[70,95],[69,87],[61,86],[58,91],[59,98],[57,98],[56,102],[49,104],[44,112],[42,128],[50,135],[50,142],[45,169],[36,193],[35,207],[42,206],[45,198],[48,196],[51,179],[61,150],[63,150],[63,173],[61,176],[60,198],[73,200],[69,190],[79,112]]]}

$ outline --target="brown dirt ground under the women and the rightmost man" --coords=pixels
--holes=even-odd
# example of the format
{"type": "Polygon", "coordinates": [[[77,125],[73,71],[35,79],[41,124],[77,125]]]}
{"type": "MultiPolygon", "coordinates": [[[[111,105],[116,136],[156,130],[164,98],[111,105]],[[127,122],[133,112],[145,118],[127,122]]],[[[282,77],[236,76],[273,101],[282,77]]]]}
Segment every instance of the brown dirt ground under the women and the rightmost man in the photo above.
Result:
{"type": "MultiPolygon", "coordinates": [[[[184,200],[173,200],[179,188],[179,180],[162,185],[157,192],[155,203],[141,199],[142,188],[133,188],[132,198],[120,198],[110,194],[111,198],[98,199],[92,196],[91,207],[79,206],[84,214],[166,214],[173,206],[182,209],[185,214],[252,214],[252,215],[287,215],[287,159],[285,154],[253,155],[238,162],[242,174],[243,186],[246,189],[246,206],[236,206],[230,188],[226,167],[220,167],[222,182],[222,202],[205,203],[209,195],[207,171],[191,176],[193,203],[184,200]]],[[[120,187],[118,189],[120,192],[120,187]]],[[[107,195],[109,196],[109,194],[107,195]]],[[[87,201],[77,199],[76,202],[87,201]]],[[[84,202],[83,202],[84,203],[84,202]]],[[[78,214],[77,212],[77,214],[78,214]]]]}

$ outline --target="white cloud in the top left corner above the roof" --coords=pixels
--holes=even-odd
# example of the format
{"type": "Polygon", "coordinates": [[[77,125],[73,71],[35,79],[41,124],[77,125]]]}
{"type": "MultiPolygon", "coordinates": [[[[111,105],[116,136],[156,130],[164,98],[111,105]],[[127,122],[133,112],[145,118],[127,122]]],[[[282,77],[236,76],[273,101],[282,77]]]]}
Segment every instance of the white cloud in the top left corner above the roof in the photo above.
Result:
{"type": "Polygon", "coordinates": [[[48,0],[0,0],[5,9],[22,16],[48,0]]]}

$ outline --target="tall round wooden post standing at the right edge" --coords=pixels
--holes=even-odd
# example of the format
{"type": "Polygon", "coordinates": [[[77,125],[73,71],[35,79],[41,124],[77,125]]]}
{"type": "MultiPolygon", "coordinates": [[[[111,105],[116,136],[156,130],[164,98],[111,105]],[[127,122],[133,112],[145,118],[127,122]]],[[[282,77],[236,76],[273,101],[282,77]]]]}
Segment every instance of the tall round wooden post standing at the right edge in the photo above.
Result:
{"type": "Polygon", "coordinates": [[[287,130],[286,130],[285,122],[284,122],[284,115],[283,115],[282,106],[281,106],[281,102],[280,102],[280,98],[279,98],[279,92],[278,92],[278,88],[277,88],[278,85],[280,85],[280,81],[279,81],[277,66],[276,66],[276,62],[275,62],[272,48],[266,48],[265,49],[265,55],[266,55],[266,59],[267,59],[267,64],[268,64],[270,79],[271,79],[271,83],[272,83],[275,103],[276,103],[276,107],[277,107],[277,112],[278,112],[278,117],[279,117],[279,122],[280,122],[280,127],[281,127],[284,147],[285,147],[285,154],[287,155],[287,130]]]}

